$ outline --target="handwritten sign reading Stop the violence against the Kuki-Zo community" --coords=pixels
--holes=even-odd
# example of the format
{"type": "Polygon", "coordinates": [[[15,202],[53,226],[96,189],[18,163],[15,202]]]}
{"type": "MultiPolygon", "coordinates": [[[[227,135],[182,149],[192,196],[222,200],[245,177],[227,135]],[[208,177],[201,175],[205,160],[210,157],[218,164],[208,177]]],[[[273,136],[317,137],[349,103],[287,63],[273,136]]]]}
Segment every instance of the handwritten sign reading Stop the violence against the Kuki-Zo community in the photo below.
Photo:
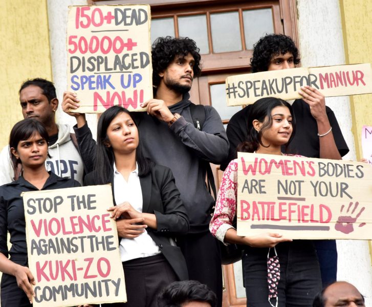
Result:
{"type": "Polygon", "coordinates": [[[125,302],[110,185],[23,193],[34,306],[125,302]]]}

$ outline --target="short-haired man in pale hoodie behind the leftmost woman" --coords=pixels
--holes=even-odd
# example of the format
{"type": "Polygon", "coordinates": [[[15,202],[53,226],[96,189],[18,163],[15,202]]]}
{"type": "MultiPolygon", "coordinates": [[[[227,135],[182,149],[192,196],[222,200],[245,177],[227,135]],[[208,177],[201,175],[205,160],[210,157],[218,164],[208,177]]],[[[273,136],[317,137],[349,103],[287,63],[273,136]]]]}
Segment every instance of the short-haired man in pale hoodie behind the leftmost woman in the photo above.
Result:
{"type": "MultiPolygon", "coordinates": [[[[24,118],[35,118],[49,134],[48,171],[60,177],[70,177],[82,184],[83,162],[70,134],[69,125],[57,124],[55,112],[58,107],[56,90],[52,82],[35,78],[24,82],[19,90],[19,101],[24,118]]],[[[14,170],[10,162],[9,146],[0,153],[0,185],[14,181],[21,169],[14,170]]]]}

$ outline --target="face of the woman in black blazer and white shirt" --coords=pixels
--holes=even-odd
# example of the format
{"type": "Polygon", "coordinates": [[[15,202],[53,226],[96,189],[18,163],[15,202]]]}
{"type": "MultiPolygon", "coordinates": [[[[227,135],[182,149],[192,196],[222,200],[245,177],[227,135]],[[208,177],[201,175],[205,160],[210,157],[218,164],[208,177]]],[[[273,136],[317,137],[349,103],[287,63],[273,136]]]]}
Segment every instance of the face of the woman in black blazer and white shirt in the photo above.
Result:
{"type": "Polygon", "coordinates": [[[107,127],[107,147],[112,147],[114,155],[128,154],[136,151],[138,146],[138,129],[129,114],[120,112],[107,127]]]}

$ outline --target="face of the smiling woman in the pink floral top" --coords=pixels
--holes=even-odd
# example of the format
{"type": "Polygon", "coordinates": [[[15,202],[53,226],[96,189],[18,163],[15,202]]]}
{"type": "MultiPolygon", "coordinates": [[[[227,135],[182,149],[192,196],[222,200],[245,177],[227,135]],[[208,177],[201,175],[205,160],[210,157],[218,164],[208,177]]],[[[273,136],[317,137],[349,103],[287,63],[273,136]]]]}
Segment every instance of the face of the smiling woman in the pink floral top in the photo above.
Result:
{"type": "MultiPolygon", "coordinates": [[[[265,128],[261,134],[261,142],[265,146],[281,146],[287,144],[292,134],[292,115],[289,108],[276,106],[271,111],[271,126],[265,128]]],[[[259,131],[264,123],[254,123],[259,131]]]]}

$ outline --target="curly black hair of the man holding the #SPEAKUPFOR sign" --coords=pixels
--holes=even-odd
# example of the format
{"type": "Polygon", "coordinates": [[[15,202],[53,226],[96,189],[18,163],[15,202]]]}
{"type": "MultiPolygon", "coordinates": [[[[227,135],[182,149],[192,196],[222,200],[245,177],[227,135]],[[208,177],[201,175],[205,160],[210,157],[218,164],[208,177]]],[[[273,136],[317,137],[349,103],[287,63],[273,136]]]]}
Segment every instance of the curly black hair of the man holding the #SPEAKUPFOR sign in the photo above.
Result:
{"type": "Polygon", "coordinates": [[[291,37],[284,34],[266,34],[253,46],[252,73],[266,72],[273,56],[287,52],[292,53],[295,64],[300,62],[298,49],[291,37]]]}

